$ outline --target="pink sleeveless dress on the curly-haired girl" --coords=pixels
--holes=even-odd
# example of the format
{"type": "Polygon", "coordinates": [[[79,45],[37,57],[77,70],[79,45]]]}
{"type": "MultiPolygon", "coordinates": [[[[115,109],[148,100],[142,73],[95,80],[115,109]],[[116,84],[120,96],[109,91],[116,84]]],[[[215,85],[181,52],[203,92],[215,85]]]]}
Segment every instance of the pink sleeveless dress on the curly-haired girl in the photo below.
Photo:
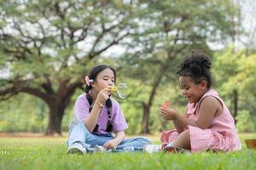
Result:
{"type": "MultiPolygon", "coordinates": [[[[191,152],[200,152],[205,150],[240,150],[241,143],[236,133],[236,127],[233,117],[229,109],[222,99],[218,97],[218,92],[214,89],[209,90],[201,99],[193,104],[187,105],[187,117],[196,120],[199,115],[199,108],[202,99],[207,96],[213,96],[223,105],[223,111],[219,116],[215,116],[211,127],[202,129],[200,127],[189,126],[189,137],[191,144],[191,152]]],[[[161,141],[170,143],[177,138],[179,133],[176,129],[166,131],[161,135],[161,141]]]]}

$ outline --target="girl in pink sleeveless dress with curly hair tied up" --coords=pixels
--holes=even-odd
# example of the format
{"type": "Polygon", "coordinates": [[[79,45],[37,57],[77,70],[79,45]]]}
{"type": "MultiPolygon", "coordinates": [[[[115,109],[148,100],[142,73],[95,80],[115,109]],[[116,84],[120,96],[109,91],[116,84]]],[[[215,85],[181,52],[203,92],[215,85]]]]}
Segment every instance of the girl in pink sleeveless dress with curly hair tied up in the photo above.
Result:
{"type": "Polygon", "coordinates": [[[173,108],[160,107],[161,116],[176,129],[162,133],[163,144],[148,144],[148,152],[199,152],[205,150],[240,150],[233,117],[218,92],[212,89],[211,60],[193,52],[179,65],[177,75],[183,95],[188,100],[185,116],[173,108]]]}

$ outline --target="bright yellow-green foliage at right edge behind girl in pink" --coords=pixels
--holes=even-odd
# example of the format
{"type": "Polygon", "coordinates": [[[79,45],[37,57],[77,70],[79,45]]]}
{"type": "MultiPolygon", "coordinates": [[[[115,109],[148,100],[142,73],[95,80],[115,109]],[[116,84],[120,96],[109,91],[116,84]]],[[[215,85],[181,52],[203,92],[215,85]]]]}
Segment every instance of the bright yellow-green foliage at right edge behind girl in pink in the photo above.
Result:
{"type": "Polygon", "coordinates": [[[215,75],[217,81],[223,82],[221,86],[224,91],[237,89],[252,93],[252,84],[256,78],[255,61],[256,55],[247,56],[244,50],[236,52],[234,48],[228,48],[224,52],[216,53],[213,61],[215,75]],[[233,84],[236,86],[232,86],[233,84]]]}

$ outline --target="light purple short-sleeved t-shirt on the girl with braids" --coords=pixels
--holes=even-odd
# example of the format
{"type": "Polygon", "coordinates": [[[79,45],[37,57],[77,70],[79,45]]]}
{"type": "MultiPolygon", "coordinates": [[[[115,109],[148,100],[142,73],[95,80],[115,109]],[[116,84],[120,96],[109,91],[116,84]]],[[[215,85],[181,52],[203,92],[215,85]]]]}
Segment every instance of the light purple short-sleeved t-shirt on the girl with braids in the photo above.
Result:
{"type": "MultiPolygon", "coordinates": [[[[112,111],[111,111],[111,122],[113,125],[113,133],[117,133],[119,131],[125,130],[128,128],[127,122],[125,121],[125,116],[123,114],[123,111],[120,108],[119,103],[113,99],[110,98],[112,101],[112,111]]],[[[89,116],[90,112],[90,104],[88,99],[86,99],[86,94],[79,95],[78,99],[75,102],[74,105],[74,118],[77,118],[81,121],[83,121],[87,116],[89,116]]],[[[107,128],[107,122],[108,122],[108,109],[107,106],[104,105],[102,108],[102,112],[100,113],[98,117],[98,132],[100,134],[106,134],[106,128],[107,128]]]]}

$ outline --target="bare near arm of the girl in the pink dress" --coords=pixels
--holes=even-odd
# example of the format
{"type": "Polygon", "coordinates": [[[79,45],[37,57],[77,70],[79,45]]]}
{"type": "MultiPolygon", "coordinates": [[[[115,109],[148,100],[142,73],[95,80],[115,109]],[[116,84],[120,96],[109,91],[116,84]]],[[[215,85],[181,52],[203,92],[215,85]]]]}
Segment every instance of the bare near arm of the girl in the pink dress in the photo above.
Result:
{"type": "Polygon", "coordinates": [[[202,100],[197,120],[189,119],[189,125],[206,129],[212,125],[214,116],[222,111],[222,105],[218,99],[207,96],[202,100]]]}

